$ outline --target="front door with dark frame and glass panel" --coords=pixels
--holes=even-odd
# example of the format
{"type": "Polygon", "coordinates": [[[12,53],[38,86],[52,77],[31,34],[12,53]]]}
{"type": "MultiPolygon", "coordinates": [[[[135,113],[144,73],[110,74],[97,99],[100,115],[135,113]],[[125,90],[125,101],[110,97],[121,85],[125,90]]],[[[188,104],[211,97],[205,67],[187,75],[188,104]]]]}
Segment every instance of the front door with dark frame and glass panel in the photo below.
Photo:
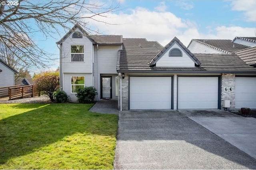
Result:
{"type": "Polygon", "coordinates": [[[112,99],[112,77],[101,77],[101,98],[112,99]]]}

